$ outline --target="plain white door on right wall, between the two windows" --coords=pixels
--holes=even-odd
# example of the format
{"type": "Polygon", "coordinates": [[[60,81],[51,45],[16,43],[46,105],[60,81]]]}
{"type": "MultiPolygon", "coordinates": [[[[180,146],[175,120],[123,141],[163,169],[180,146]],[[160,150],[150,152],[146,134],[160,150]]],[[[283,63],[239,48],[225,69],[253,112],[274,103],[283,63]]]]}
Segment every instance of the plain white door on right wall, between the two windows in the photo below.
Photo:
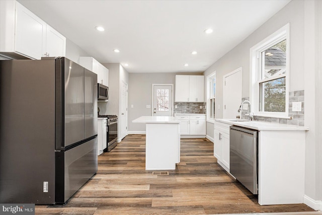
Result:
{"type": "Polygon", "coordinates": [[[238,107],[241,103],[241,82],[243,76],[241,67],[224,76],[223,86],[223,118],[236,118],[238,107]]]}

